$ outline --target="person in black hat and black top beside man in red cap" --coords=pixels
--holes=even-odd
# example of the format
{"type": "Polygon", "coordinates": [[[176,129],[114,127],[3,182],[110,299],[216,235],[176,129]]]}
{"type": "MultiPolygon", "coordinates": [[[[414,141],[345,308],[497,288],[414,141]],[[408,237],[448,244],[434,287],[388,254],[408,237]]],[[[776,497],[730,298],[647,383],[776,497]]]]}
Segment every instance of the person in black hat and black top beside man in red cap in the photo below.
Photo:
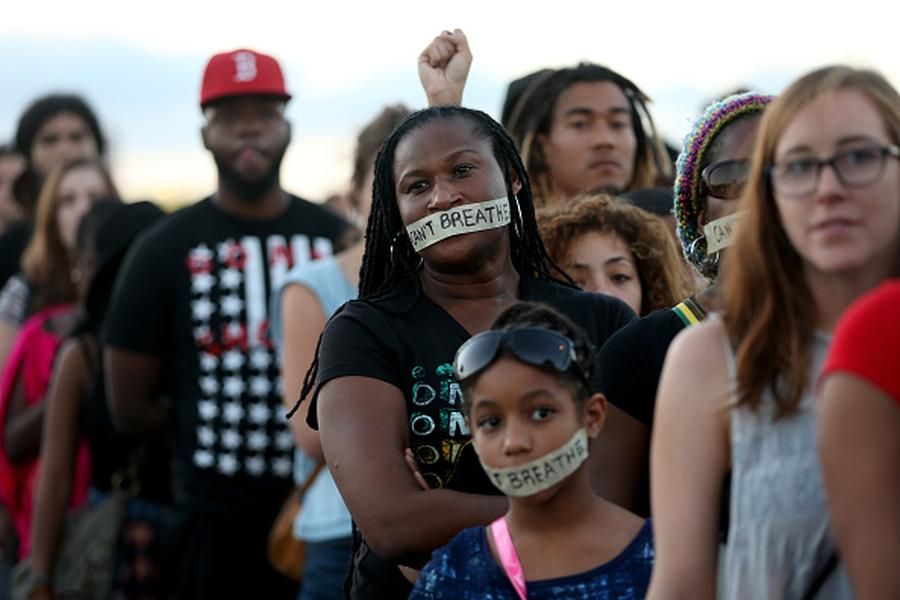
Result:
{"type": "MultiPolygon", "coordinates": [[[[91,456],[92,498],[100,500],[121,483],[134,486],[123,526],[113,595],[162,597],[159,531],[169,502],[168,454],[164,440],[137,440],[118,433],[110,420],[100,364],[99,336],[113,283],[135,238],[162,218],[149,202],[94,205],[79,229],[81,321],[63,343],[53,370],[41,448],[42,468],[32,521],[29,567],[40,595],[51,590],[57,544],[72,492],[75,448],[86,439],[91,456]]],[[[37,591],[37,590],[36,590],[37,591]]],[[[73,590],[59,590],[73,593],[73,590]]],[[[75,592],[77,593],[77,592],[75,592]]]]}

